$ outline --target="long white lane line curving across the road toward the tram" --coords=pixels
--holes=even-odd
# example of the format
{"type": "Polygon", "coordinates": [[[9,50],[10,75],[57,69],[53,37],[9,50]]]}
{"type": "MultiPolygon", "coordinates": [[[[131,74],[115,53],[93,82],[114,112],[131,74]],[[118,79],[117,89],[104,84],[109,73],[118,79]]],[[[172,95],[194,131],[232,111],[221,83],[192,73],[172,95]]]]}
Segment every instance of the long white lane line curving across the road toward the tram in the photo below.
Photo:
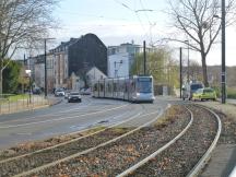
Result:
{"type": "MultiPolygon", "coordinates": [[[[127,105],[128,105],[128,104],[127,104],[127,105]]],[[[35,121],[35,122],[21,123],[21,125],[3,126],[3,127],[0,127],[0,129],[8,129],[8,128],[15,128],[15,127],[24,127],[24,126],[38,125],[38,123],[45,123],[45,122],[51,122],[51,121],[59,121],[59,120],[64,120],[64,119],[74,119],[74,118],[79,118],[79,117],[83,117],[83,116],[88,116],[88,115],[95,115],[95,114],[99,114],[99,113],[105,113],[105,111],[108,111],[108,110],[115,110],[115,109],[125,107],[125,106],[127,106],[127,105],[122,105],[122,106],[118,106],[118,107],[115,107],[115,108],[105,109],[105,110],[101,110],[101,111],[88,113],[88,114],[84,114],[84,115],[80,115],[80,116],[71,116],[71,117],[56,118],[56,119],[50,119],[50,120],[35,121]]]]}

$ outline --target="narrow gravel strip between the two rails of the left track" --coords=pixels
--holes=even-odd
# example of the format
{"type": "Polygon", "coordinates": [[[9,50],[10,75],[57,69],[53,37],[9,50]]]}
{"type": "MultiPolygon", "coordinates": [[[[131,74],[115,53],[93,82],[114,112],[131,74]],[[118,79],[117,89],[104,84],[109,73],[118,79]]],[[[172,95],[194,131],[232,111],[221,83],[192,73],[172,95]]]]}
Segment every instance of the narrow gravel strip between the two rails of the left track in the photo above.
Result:
{"type": "Polygon", "coordinates": [[[72,154],[82,152],[86,149],[96,146],[116,137],[119,137],[128,131],[130,131],[130,129],[128,128],[107,129],[97,134],[78,140],[75,142],[71,142],[69,144],[64,144],[51,150],[46,150],[44,152],[34,153],[15,161],[13,160],[7,163],[1,163],[1,176],[13,176],[37,166],[42,166],[44,164],[70,156],[72,154]]]}

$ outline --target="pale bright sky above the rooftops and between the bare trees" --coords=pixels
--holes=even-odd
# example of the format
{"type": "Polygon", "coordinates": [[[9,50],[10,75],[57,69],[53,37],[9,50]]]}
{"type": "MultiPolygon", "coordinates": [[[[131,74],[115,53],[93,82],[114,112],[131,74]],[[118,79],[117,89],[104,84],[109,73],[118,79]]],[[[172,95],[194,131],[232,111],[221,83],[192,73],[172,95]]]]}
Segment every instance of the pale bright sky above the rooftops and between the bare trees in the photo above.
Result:
{"type": "MultiPolygon", "coordinates": [[[[52,32],[57,42],[87,33],[96,34],[106,46],[131,43],[154,43],[173,33],[166,15],[167,0],[62,0],[55,11],[61,30],[52,32]],[[145,9],[145,11],[141,11],[145,9]]],[[[226,64],[236,66],[236,27],[226,30],[226,64]]],[[[176,44],[175,47],[181,44],[176,44]]],[[[184,47],[184,46],[182,46],[184,47]]],[[[186,51],[187,54],[187,51],[186,51]]],[[[190,59],[200,56],[190,51],[190,59]]],[[[208,64],[221,64],[221,45],[208,56],[208,64]]]]}

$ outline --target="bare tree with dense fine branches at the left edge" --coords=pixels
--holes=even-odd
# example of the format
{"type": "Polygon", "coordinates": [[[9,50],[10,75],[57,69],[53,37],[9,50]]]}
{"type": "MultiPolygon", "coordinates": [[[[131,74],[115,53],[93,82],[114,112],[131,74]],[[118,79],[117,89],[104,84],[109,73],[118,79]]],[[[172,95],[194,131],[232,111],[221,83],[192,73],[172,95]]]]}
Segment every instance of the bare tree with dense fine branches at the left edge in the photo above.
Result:
{"type": "Polygon", "coordinates": [[[0,94],[5,58],[16,50],[36,45],[56,27],[52,10],[59,0],[1,0],[0,1],[0,94]]]}

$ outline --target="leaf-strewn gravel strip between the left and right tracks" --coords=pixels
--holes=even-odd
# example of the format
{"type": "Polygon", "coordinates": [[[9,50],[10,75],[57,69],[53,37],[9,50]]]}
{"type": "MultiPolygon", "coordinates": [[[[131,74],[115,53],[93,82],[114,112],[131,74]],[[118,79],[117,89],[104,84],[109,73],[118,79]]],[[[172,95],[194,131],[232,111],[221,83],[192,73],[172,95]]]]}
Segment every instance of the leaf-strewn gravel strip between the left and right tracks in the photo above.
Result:
{"type": "Polygon", "coordinates": [[[115,143],[31,176],[118,175],[176,137],[190,120],[189,113],[179,106],[166,117],[161,125],[143,128],[115,143]]]}

